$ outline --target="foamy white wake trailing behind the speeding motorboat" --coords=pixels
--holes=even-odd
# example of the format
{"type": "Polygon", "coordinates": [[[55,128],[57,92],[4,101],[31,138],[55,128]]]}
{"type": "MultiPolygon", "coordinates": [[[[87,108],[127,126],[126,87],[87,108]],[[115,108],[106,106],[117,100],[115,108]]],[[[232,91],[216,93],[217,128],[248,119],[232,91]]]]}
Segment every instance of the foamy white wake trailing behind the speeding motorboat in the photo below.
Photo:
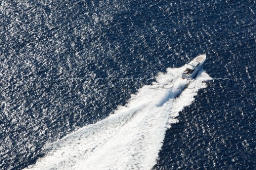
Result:
{"type": "Polygon", "coordinates": [[[150,169],[156,164],[165,131],[185,106],[194,101],[204,81],[180,79],[184,67],[168,69],[159,82],[173,80],[170,89],[142,87],[126,106],[98,123],[85,126],[51,143],[32,169],[150,169]],[[186,89],[184,89],[186,87],[186,89]],[[181,93],[182,92],[182,93],[181,93]],[[179,95],[179,96],[178,96],[179,95]],[[178,96],[178,97],[177,97],[178,96]]]}

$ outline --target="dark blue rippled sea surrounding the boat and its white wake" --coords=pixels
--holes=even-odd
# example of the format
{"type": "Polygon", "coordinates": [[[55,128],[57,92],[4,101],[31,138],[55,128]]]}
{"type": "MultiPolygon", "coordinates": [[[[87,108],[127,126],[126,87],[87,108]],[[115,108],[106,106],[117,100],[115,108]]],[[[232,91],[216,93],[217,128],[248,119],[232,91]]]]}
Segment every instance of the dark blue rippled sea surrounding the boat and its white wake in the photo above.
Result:
{"type": "Polygon", "coordinates": [[[0,169],[22,169],[206,54],[213,80],[166,131],[153,169],[256,168],[256,2],[1,1],[0,169]]]}

